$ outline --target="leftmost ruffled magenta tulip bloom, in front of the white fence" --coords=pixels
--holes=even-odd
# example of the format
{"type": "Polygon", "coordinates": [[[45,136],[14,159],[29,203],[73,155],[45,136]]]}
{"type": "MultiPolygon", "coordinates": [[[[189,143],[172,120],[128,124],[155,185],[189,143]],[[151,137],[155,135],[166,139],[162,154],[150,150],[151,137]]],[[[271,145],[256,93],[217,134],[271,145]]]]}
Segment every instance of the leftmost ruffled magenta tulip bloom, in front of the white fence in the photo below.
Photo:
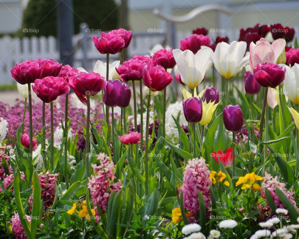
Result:
{"type": "Polygon", "coordinates": [[[10,72],[12,77],[21,85],[34,83],[34,81],[40,78],[42,69],[40,68],[39,61],[23,61],[21,64],[16,64],[10,72]]]}

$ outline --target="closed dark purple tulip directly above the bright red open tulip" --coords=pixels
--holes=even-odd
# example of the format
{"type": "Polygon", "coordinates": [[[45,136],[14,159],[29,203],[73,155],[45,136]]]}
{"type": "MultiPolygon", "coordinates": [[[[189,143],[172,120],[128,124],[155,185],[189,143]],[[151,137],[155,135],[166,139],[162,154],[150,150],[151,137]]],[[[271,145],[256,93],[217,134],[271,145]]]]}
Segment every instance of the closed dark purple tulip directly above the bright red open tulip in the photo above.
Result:
{"type": "Polygon", "coordinates": [[[239,105],[227,105],[223,109],[223,123],[228,131],[238,131],[243,126],[243,112],[239,105]]]}

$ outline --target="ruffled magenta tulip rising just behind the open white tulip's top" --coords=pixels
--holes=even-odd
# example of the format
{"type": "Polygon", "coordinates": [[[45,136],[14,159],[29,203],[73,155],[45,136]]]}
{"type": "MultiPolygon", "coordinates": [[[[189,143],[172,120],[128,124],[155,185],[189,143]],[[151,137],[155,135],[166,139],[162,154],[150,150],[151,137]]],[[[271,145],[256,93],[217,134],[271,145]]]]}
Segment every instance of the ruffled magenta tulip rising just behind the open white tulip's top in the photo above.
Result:
{"type": "Polygon", "coordinates": [[[196,54],[202,46],[210,46],[211,39],[209,36],[194,34],[185,38],[184,40],[181,40],[180,44],[182,51],[188,49],[192,51],[193,54],[196,54]]]}

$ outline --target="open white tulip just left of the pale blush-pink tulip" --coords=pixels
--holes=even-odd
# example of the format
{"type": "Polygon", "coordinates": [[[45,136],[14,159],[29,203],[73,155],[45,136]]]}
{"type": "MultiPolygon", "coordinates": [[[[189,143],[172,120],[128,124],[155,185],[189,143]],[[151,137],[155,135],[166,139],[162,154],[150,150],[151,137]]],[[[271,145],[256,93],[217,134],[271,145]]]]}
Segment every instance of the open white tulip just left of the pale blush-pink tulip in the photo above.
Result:
{"type": "Polygon", "coordinates": [[[249,62],[249,55],[244,56],[246,46],[244,41],[218,43],[213,54],[213,63],[223,77],[229,79],[235,76],[249,62]]]}

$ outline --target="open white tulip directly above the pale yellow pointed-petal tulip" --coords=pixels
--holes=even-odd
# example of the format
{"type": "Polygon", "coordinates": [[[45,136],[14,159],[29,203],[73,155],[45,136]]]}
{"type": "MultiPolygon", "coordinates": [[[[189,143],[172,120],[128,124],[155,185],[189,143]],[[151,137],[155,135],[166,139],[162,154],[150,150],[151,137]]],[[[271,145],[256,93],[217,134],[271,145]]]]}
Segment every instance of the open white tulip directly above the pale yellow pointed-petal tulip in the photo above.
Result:
{"type": "Polygon", "coordinates": [[[202,82],[213,51],[211,48],[204,47],[195,55],[190,50],[174,49],[172,52],[182,82],[194,89],[202,82]]]}

